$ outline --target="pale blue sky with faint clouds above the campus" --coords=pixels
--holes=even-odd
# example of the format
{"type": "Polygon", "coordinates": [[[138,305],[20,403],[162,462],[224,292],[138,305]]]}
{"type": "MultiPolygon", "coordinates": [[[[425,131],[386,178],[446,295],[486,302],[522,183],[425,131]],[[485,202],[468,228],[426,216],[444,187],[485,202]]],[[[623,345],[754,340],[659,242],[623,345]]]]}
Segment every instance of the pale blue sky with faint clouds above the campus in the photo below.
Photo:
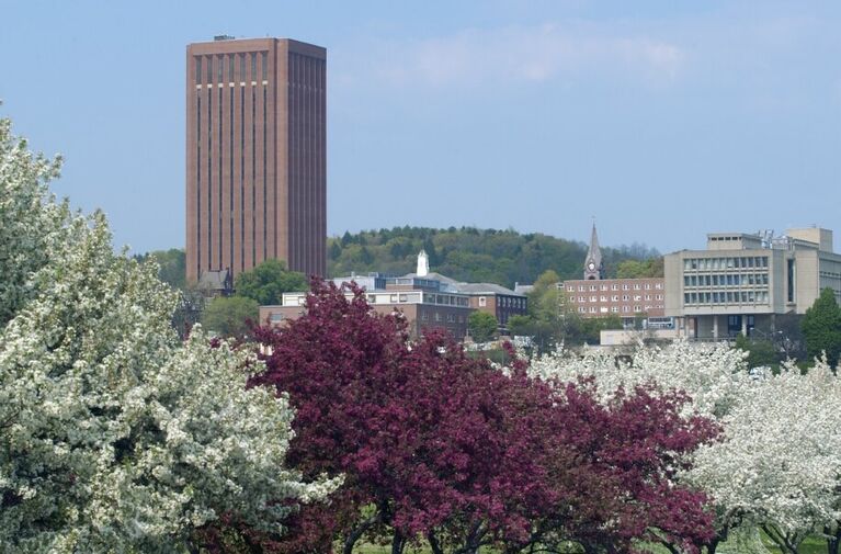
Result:
{"type": "Polygon", "coordinates": [[[134,251],[183,247],[185,46],[215,34],[328,48],[330,235],[841,234],[838,1],[0,0],[0,115],[134,251]]]}

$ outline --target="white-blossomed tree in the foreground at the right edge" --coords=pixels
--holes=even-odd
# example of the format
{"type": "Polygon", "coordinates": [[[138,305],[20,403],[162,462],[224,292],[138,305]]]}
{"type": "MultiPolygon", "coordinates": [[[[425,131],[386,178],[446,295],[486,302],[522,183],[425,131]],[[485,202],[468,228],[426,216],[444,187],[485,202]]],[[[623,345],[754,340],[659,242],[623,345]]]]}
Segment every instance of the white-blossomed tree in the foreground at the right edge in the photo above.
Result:
{"type": "Polygon", "coordinates": [[[698,450],[686,479],[726,520],[761,527],[782,552],[823,530],[838,552],[841,381],[826,360],[753,381],[721,423],[724,440],[698,450]]]}

